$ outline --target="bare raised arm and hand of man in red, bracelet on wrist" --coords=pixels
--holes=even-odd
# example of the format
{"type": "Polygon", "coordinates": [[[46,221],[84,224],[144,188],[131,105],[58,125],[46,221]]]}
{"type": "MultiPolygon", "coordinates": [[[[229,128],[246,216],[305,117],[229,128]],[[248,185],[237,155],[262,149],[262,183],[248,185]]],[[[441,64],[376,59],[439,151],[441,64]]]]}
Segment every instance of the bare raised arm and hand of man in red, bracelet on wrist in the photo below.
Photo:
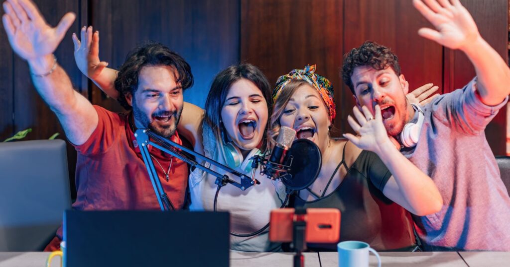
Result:
{"type": "Polygon", "coordinates": [[[65,14],[53,28],[30,0],[8,0],[3,6],[2,19],[9,43],[28,61],[37,92],[58,116],[69,141],[83,144],[97,126],[97,112],[85,97],[73,90],[69,77],[53,55],[76,16],[65,14]]]}

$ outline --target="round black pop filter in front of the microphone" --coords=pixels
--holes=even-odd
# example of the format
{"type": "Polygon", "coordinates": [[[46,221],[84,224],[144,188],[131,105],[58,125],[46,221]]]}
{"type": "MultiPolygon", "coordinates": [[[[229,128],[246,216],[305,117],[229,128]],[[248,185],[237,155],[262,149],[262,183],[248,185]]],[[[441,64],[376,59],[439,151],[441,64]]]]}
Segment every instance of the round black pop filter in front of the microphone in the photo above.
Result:
{"type": "Polygon", "coordinates": [[[322,154],[319,147],[308,139],[297,139],[292,143],[285,158],[285,165],[290,165],[282,183],[290,190],[302,190],[312,185],[319,176],[322,154]],[[292,164],[290,162],[292,158],[292,164]]]}

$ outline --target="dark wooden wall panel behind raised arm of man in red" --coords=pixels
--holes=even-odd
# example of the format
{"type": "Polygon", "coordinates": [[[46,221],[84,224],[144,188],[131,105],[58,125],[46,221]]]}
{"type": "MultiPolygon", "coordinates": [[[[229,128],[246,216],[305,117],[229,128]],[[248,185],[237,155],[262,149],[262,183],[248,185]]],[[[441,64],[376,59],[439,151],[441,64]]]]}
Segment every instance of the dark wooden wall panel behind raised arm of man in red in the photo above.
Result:
{"type": "MultiPolygon", "coordinates": [[[[82,6],[86,3],[81,1],[50,1],[36,0],[34,1],[40,12],[50,25],[57,25],[62,16],[67,12],[77,14],[77,19],[70,27],[62,43],[55,51],[57,61],[71,78],[71,82],[79,92],[84,96],[88,96],[86,88],[81,90],[82,75],[74,62],[73,43],[71,39],[72,32],[78,32],[80,28],[80,20],[82,19],[82,6]]],[[[3,32],[2,34],[5,34],[3,32]]],[[[10,48],[9,48],[10,49],[10,48]]],[[[11,50],[12,51],[12,50],[11,50]]],[[[13,53],[11,53],[13,55],[13,53]]],[[[4,66],[4,62],[2,62],[4,66]]],[[[6,65],[9,66],[9,65],[6,65]]],[[[41,99],[32,83],[27,62],[21,60],[17,55],[13,55],[12,65],[9,66],[13,72],[11,79],[13,85],[13,131],[17,132],[27,128],[32,128],[32,132],[27,135],[27,140],[47,139],[54,133],[60,133],[58,138],[65,139],[64,131],[60,126],[57,116],[49,109],[46,103],[41,99]]],[[[76,166],[76,151],[74,147],[68,143],[68,168],[71,182],[71,197],[75,197],[74,173],[76,166]]]]}

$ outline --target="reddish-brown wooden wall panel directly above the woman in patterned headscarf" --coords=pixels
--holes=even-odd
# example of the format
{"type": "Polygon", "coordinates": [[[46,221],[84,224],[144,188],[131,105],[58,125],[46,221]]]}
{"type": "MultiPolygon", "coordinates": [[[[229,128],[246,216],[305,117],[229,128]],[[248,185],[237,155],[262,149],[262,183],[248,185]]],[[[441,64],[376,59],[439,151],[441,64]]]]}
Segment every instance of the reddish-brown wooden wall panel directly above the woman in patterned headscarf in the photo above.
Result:
{"type": "Polygon", "coordinates": [[[341,0],[242,0],[241,61],[261,68],[271,84],[292,69],[317,64],[316,73],[336,88],[338,106],[342,6],[341,0]]]}

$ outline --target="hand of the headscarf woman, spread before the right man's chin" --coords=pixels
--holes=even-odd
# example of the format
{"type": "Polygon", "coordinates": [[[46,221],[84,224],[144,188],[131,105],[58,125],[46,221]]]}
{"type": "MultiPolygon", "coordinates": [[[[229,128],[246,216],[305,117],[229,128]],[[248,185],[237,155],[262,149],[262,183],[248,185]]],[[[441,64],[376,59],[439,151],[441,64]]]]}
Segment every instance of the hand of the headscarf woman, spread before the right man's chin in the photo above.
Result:
{"type": "Polygon", "coordinates": [[[347,122],[354,132],[359,134],[359,136],[354,136],[349,133],[344,134],[343,136],[349,139],[356,146],[360,147],[360,149],[379,154],[382,144],[391,141],[388,137],[384,124],[382,124],[381,109],[379,105],[375,106],[375,116],[372,116],[372,113],[366,106],[362,107],[363,113],[357,106],[354,106],[352,111],[358,122],[356,122],[350,115],[347,116],[347,122]]]}

